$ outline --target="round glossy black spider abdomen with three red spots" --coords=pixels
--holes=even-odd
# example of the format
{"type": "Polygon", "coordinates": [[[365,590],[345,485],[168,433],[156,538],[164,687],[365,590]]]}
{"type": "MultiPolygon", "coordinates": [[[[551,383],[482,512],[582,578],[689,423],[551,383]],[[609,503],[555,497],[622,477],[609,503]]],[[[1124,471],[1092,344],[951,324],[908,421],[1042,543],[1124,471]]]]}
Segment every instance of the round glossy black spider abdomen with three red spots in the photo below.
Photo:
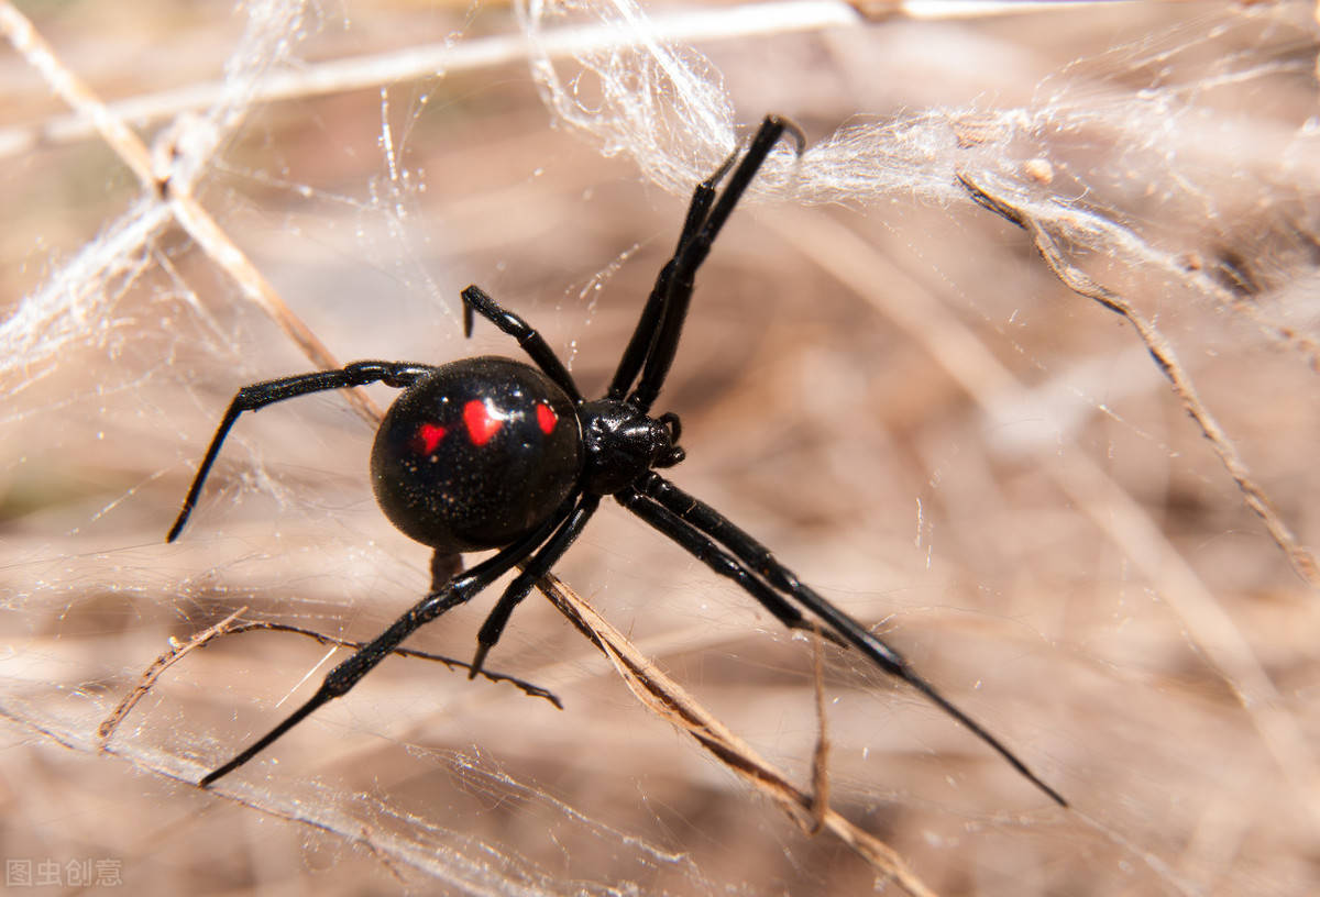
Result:
{"type": "Polygon", "coordinates": [[[436,368],[385,414],[371,451],[376,501],[436,549],[508,545],[549,517],[582,468],[573,402],[544,373],[482,356],[436,368]]]}

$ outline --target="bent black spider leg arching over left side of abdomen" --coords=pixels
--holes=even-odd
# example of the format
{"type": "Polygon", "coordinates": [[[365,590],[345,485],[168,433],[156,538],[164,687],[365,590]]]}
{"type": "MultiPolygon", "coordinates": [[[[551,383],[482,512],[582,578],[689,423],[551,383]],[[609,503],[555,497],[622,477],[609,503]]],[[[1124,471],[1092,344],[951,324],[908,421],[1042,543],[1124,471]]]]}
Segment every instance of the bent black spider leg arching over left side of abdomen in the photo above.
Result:
{"type": "Polygon", "coordinates": [[[384,383],[387,387],[405,389],[432,371],[434,371],[434,367],[429,364],[354,361],[338,371],[300,373],[293,377],[280,377],[279,380],[267,380],[243,387],[234,396],[234,401],[230,402],[224,417],[220,418],[220,425],[215,429],[215,435],[211,437],[211,445],[206,450],[206,456],[197,468],[197,476],[193,478],[193,485],[187,489],[187,496],[183,499],[183,508],[178,512],[174,525],[169,528],[165,541],[173,542],[183,530],[183,524],[187,522],[187,517],[193,513],[193,507],[197,505],[197,499],[202,493],[202,484],[206,483],[206,476],[211,472],[211,464],[215,463],[215,456],[220,454],[224,437],[228,435],[230,427],[234,426],[234,422],[243,412],[255,412],[267,405],[309,393],[363,387],[368,383],[384,383]]]}

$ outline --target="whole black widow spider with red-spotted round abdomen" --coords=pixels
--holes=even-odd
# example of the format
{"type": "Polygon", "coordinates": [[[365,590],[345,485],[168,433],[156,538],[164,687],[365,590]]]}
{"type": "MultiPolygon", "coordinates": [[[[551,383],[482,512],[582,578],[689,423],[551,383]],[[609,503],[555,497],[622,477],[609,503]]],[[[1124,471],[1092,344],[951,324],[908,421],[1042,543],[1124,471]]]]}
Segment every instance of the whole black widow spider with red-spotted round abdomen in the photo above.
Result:
{"type": "Polygon", "coordinates": [[[678,348],[693,277],[747,185],[785,133],[793,137],[801,154],[805,145],[801,131],[785,119],[767,116],[737,168],[735,150],[697,185],[678,245],[656,277],[603,398],[583,398],[536,330],[478,286],[462,293],[465,334],[471,335],[473,315],[480,314],[516,338],[536,368],[496,356],[440,367],[356,361],[339,371],[268,380],[238,392],[166,541],[173,542],[187,522],[239,414],[308,393],[384,383],[404,393],[376,433],[372,487],[391,522],[434,549],[433,580],[424,599],[334,667],[317,693],[288,719],[205,776],[202,788],[246,764],[321,704],[347,693],[418,627],[521,566],[477,636],[477,656],[469,670],[469,678],[475,677],[513,608],[573,543],[602,496],[612,495],[717,574],[737,582],[785,627],[814,629],[793,602],[800,604],[829,628],[826,634],[833,641],[851,645],[890,675],[913,686],[1057,805],[1068,806],[1007,747],[913,671],[896,650],[803,584],[766,546],[723,514],[655,472],[684,458],[678,447],[678,417],[672,413],[651,417],[649,412],[678,348]],[[717,195],[715,187],[726,175],[729,182],[717,195]],[[451,574],[457,553],[488,549],[500,550],[471,570],[451,574]]]}

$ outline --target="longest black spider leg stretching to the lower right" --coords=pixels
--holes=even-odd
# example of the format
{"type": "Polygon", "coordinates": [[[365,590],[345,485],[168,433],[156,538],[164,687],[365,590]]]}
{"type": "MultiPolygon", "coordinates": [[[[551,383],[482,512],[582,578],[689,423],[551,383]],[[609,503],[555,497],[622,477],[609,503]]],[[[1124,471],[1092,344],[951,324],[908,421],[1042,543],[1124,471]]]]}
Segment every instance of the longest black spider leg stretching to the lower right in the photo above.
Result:
{"type": "MultiPolygon", "coordinates": [[[[1055,803],[1061,807],[1068,806],[1068,802],[1061,794],[1059,794],[1059,791],[1052,789],[1049,785],[1045,785],[1045,782],[1031,772],[1031,769],[1028,769],[1027,765],[1007,748],[1007,745],[999,741],[995,736],[990,735],[990,732],[987,732],[979,723],[973,720],[948,698],[940,694],[933,685],[921,678],[921,675],[912,669],[902,654],[882,640],[873,636],[870,631],[867,631],[866,627],[859,624],[857,620],[817,595],[810,587],[805,586],[800,579],[797,579],[792,570],[775,559],[775,555],[770,551],[770,549],[743,532],[727,517],[653,472],[644,474],[639,478],[634,484],[634,489],[649,499],[653,499],[657,504],[671,510],[690,528],[689,532],[678,536],[660,529],[660,532],[665,536],[669,536],[669,538],[702,561],[706,558],[701,554],[701,540],[697,538],[701,533],[705,533],[723,545],[738,561],[754,570],[766,583],[776,588],[779,592],[788,595],[810,613],[820,617],[821,621],[829,625],[850,645],[866,654],[882,670],[890,675],[903,679],[925,695],[928,700],[940,707],[940,710],[962,723],[972,731],[973,735],[993,748],[995,753],[1008,762],[1008,765],[1016,769],[1032,785],[1044,791],[1055,803]]],[[[706,561],[706,563],[710,565],[709,561],[706,561]]],[[[754,598],[759,599],[759,595],[755,591],[750,588],[747,591],[754,598]]]]}

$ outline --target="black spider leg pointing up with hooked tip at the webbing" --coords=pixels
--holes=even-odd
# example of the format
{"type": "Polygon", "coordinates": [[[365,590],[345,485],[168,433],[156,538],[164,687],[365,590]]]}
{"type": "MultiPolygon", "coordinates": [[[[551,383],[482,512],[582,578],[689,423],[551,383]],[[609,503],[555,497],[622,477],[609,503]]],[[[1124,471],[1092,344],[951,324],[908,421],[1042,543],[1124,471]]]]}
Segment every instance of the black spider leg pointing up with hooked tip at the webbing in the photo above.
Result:
{"type": "MultiPolygon", "coordinates": [[[[785,132],[793,136],[797,153],[801,154],[807,144],[801,129],[788,119],[767,115],[751,139],[742,162],[729,175],[729,183],[725,185],[723,193],[719,194],[719,199],[715,201],[701,228],[689,240],[681,243],[673,259],[661,270],[660,280],[665,278],[665,270],[668,270],[663,307],[656,315],[655,334],[648,340],[649,347],[642,379],[628,398],[639,410],[651,409],[651,404],[660,394],[660,387],[664,385],[665,376],[669,373],[669,365],[673,364],[673,356],[678,351],[678,338],[682,335],[682,323],[688,317],[688,305],[692,302],[693,278],[697,269],[710,253],[710,245],[719,235],[725,222],[729,220],[743,191],[756,177],[756,171],[770,156],[770,150],[775,148],[785,132]]],[[[693,202],[696,203],[696,197],[693,202]]]]}

